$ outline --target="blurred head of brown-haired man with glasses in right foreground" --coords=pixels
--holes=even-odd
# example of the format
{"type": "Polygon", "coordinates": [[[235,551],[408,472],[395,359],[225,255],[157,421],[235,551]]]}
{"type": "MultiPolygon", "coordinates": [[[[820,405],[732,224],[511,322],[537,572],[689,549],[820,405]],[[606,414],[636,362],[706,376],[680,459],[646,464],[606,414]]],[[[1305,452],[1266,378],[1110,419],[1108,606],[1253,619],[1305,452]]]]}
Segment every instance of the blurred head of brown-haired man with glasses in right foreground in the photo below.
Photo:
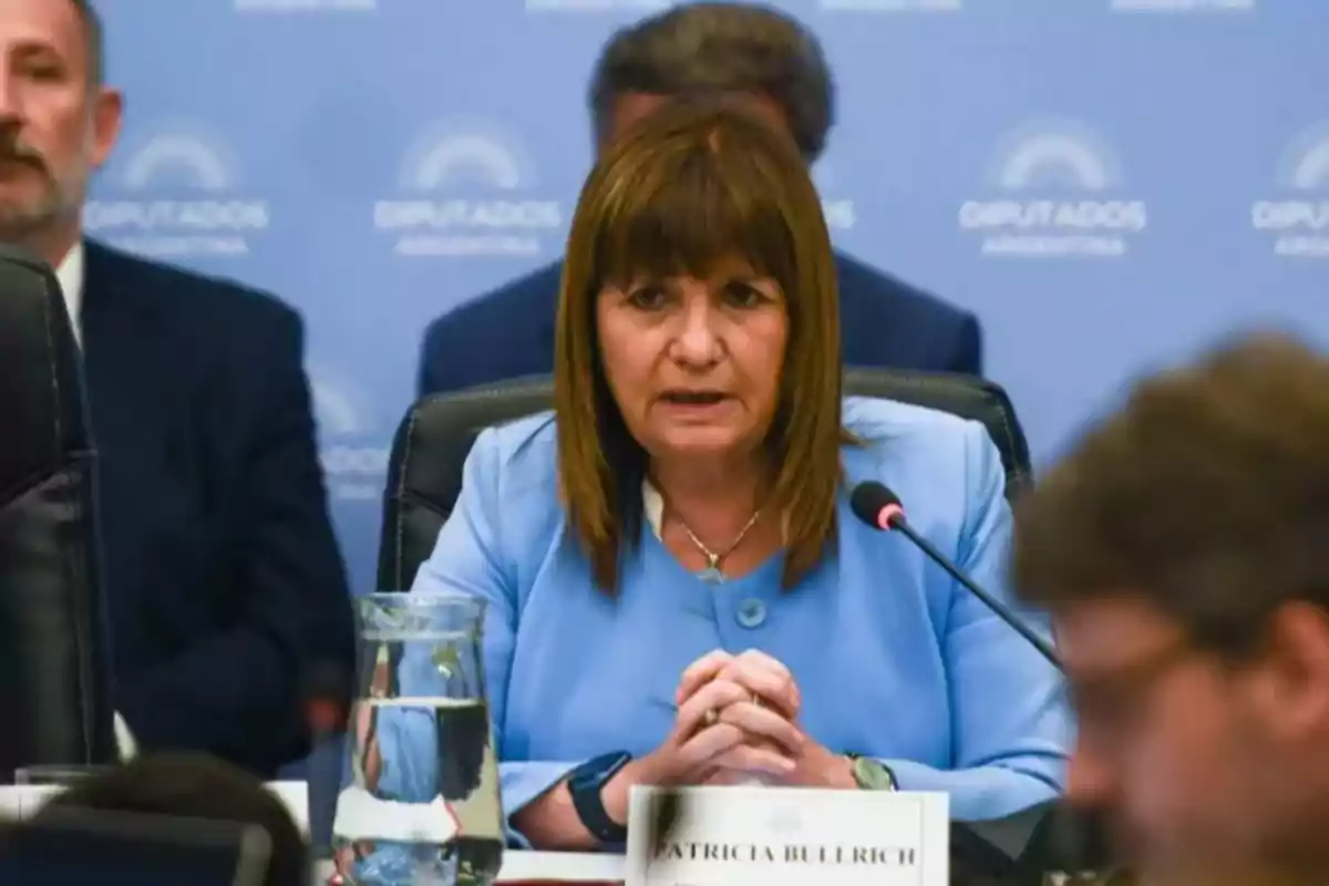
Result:
{"type": "Polygon", "coordinates": [[[1079,717],[1070,798],[1166,882],[1329,882],[1329,361],[1142,383],[1017,510],[1079,717]]]}

